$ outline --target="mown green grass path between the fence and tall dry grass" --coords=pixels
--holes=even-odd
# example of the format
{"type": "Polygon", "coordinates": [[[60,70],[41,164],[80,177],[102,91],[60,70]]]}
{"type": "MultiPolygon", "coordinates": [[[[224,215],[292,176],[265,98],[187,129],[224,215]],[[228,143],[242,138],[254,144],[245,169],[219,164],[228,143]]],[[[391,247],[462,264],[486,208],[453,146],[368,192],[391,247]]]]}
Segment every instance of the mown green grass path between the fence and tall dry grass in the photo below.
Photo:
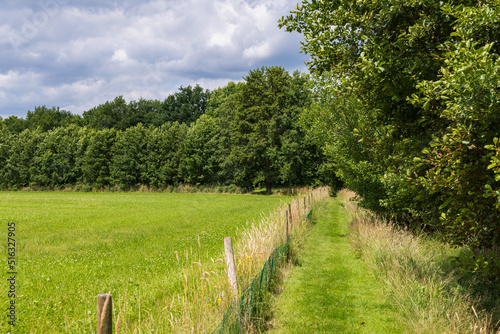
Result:
{"type": "Polygon", "coordinates": [[[338,198],[313,215],[314,226],[283,291],[269,333],[404,333],[383,282],[351,246],[350,218],[338,198]]]}

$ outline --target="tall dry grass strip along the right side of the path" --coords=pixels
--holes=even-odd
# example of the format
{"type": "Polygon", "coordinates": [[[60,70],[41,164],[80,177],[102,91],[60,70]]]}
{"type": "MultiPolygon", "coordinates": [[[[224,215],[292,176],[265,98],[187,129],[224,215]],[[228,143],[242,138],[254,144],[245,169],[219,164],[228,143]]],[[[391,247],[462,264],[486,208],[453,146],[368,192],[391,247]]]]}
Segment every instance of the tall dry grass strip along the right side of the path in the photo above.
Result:
{"type": "Polygon", "coordinates": [[[500,333],[450,269],[459,249],[363,210],[352,192],[339,197],[352,216],[353,246],[385,282],[408,333],[500,333]]]}

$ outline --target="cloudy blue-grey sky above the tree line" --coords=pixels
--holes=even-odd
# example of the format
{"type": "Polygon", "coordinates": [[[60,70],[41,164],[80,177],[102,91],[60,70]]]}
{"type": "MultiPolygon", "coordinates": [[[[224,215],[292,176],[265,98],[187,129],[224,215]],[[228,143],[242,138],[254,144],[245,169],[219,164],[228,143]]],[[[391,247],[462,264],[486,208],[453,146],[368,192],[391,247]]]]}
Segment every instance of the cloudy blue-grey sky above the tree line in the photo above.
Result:
{"type": "Polygon", "coordinates": [[[82,114],[123,96],[307,72],[301,36],[278,28],[299,0],[2,0],[0,117],[35,106],[82,114]]]}

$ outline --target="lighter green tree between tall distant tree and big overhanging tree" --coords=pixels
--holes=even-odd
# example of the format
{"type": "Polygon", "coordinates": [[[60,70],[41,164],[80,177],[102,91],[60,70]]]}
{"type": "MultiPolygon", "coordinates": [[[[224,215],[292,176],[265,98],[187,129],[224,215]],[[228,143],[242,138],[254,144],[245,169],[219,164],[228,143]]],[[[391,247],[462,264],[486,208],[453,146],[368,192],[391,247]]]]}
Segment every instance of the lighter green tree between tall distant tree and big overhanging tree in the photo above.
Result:
{"type": "MultiPolygon", "coordinates": [[[[363,196],[365,206],[383,210],[385,196],[381,180],[389,160],[380,152],[387,149],[390,130],[371,125],[374,115],[366,113],[355,97],[342,91],[342,85],[326,74],[313,75],[313,103],[301,116],[301,124],[325,151],[329,162],[345,185],[363,196]]],[[[331,178],[335,188],[338,181],[331,178]]]]}

